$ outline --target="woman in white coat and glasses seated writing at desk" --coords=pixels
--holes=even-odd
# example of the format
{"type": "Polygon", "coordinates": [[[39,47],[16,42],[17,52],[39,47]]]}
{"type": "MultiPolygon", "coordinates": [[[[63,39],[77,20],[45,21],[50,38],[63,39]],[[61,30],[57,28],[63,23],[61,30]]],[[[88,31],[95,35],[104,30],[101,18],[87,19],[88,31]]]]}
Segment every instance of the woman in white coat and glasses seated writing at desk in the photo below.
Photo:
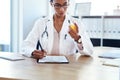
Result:
{"type": "Polygon", "coordinates": [[[80,53],[90,56],[93,45],[79,19],[66,14],[69,0],[50,0],[54,14],[35,22],[32,31],[23,42],[22,53],[35,59],[45,54],[71,55],[80,53]],[[74,24],[74,28],[70,25],[74,24]],[[40,49],[36,49],[39,41],[40,49]]]}

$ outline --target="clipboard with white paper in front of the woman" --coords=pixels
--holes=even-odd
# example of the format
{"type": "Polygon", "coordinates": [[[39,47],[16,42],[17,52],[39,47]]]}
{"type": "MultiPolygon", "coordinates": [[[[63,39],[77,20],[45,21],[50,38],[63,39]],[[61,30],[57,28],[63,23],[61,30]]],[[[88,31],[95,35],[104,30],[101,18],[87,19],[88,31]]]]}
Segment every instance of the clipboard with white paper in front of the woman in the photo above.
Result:
{"type": "Polygon", "coordinates": [[[65,56],[45,56],[37,61],[38,63],[69,63],[65,56]]]}

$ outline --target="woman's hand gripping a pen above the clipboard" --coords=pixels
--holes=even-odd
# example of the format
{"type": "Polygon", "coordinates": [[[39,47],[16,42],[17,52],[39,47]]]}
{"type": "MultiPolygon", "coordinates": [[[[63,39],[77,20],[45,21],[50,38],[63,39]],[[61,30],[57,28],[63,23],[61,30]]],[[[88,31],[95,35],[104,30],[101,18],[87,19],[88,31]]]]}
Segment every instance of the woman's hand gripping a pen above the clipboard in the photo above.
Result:
{"type": "Polygon", "coordinates": [[[45,51],[41,50],[34,50],[32,52],[32,57],[35,59],[42,59],[45,56],[45,51]]]}

